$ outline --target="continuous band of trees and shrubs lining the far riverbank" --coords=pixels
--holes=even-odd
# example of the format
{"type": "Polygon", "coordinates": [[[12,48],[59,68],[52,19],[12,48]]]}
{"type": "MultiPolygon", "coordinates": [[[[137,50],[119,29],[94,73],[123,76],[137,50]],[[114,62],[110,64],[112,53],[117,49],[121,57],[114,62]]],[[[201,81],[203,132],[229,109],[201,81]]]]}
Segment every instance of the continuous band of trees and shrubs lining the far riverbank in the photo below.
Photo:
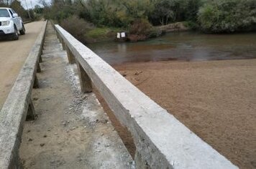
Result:
{"type": "Polygon", "coordinates": [[[255,0],[53,0],[44,11],[46,19],[58,21],[82,42],[112,40],[120,31],[137,42],[188,28],[206,33],[256,30],[255,0]]]}

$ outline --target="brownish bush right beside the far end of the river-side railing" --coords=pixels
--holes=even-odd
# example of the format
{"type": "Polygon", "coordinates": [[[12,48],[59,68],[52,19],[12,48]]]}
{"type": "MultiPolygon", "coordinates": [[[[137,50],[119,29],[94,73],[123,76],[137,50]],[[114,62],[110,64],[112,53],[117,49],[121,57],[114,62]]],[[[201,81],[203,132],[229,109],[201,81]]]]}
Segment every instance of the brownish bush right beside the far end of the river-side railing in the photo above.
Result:
{"type": "Polygon", "coordinates": [[[92,24],[79,19],[78,16],[71,16],[68,19],[64,19],[60,25],[82,43],[86,43],[86,31],[93,29],[92,24]]]}

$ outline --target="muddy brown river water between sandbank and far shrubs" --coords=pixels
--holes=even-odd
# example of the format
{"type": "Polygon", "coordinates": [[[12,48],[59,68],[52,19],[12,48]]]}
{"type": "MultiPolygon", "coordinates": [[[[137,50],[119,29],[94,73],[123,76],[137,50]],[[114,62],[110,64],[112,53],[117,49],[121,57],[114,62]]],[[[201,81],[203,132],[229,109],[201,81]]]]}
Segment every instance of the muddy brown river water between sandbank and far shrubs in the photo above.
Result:
{"type": "Polygon", "coordinates": [[[256,32],[175,32],[145,42],[102,42],[88,47],[109,64],[165,60],[201,61],[256,58],[256,32]]]}

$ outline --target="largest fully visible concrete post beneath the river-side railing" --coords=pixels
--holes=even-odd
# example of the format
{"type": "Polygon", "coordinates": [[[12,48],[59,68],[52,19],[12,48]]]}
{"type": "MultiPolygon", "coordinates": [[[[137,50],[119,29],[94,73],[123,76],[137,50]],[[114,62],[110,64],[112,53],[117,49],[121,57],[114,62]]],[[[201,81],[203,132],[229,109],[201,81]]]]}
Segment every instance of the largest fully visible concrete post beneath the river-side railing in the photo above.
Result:
{"type": "Polygon", "coordinates": [[[78,66],[78,75],[79,75],[79,79],[80,79],[81,91],[83,93],[92,92],[93,87],[91,85],[90,77],[88,77],[88,74],[86,73],[86,71],[84,71],[83,67],[81,66],[81,64],[78,61],[76,61],[76,64],[78,66]]]}

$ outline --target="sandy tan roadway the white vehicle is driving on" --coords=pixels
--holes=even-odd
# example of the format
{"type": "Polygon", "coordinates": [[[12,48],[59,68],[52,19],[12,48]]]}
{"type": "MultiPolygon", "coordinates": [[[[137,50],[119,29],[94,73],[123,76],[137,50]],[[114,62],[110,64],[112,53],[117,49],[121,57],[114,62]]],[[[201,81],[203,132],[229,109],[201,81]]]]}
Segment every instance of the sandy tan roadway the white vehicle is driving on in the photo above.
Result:
{"type": "Polygon", "coordinates": [[[19,36],[18,41],[0,41],[0,110],[44,23],[35,21],[26,24],[26,34],[19,36]]]}

